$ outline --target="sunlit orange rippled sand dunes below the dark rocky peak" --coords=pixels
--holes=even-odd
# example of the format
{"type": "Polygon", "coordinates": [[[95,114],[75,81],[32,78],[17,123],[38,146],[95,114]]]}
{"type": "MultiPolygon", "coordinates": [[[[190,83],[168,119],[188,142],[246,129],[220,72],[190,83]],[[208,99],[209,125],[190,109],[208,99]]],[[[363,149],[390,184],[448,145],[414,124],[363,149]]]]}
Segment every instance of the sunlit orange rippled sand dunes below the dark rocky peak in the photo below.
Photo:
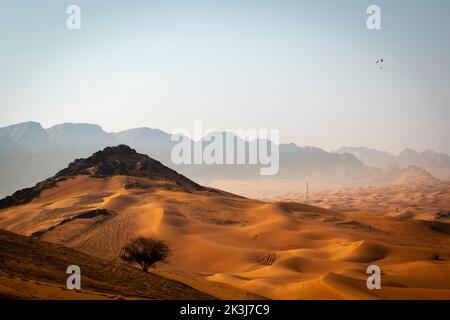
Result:
{"type": "Polygon", "coordinates": [[[233,298],[232,286],[271,299],[449,299],[449,225],[365,209],[76,176],[1,210],[0,228],[114,261],[133,237],[167,240],[172,256],[155,272],[203,292],[221,283],[221,298],[233,298]],[[366,287],[371,264],[382,269],[381,290],[366,287]]]}

